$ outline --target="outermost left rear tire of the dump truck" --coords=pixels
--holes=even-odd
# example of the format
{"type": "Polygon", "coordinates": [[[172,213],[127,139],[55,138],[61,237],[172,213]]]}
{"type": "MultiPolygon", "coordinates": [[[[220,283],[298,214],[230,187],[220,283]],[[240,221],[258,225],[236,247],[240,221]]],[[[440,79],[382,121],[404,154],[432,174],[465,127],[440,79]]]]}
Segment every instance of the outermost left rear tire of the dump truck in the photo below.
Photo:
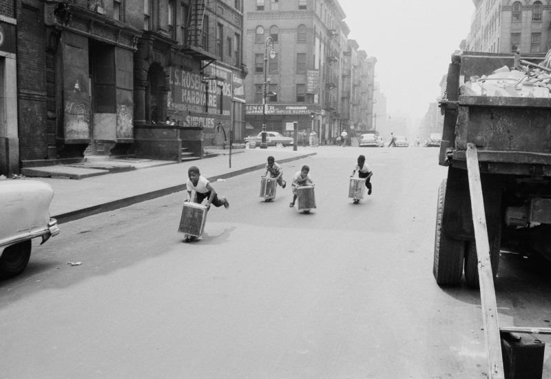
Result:
{"type": "Polygon", "coordinates": [[[444,179],[438,191],[433,274],[438,285],[457,285],[463,275],[465,241],[451,238],[442,230],[447,182],[444,179]]]}

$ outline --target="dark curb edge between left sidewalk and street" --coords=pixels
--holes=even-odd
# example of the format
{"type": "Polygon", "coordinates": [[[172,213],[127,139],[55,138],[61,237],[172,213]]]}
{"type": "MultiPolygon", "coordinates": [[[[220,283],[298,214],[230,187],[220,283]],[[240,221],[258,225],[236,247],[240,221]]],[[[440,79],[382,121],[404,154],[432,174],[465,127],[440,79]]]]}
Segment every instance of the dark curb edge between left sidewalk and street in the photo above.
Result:
{"type": "MultiPolygon", "coordinates": [[[[278,160],[278,163],[298,161],[299,159],[308,158],[309,156],[313,156],[315,154],[318,154],[318,153],[309,153],[309,154],[300,155],[300,156],[293,156],[291,158],[278,160]]],[[[266,167],[266,163],[243,168],[241,170],[236,170],[233,172],[227,172],[226,174],[211,176],[210,178],[207,178],[207,179],[212,182],[212,181],[218,181],[218,179],[233,178],[233,176],[247,174],[249,172],[260,170],[264,167],[266,167]]],[[[52,216],[52,218],[55,218],[58,224],[68,223],[69,221],[79,220],[80,218],[85,218],[87,216],[92,216],[94,214],[110,212],[115,209],[128,207],[129,205],[133,205],[136,203],[142,203],[143,201],[148,201],[161,196],[174,194],[174,192],[184,191],[185,189],[186,189],[185,183],[180,185],[174,185],[172,187],[157,189],[152,192],[146,192],[145,194],[139,194],[139,195],[130,196],[127,198],[121,198],[118,200],[109,201],[107,203],[93,205],[92,207],[86,207],[83,209],[77,209],[76,211],[72,211],[72,212],[57,214],[56,216],[52,216]]]]}

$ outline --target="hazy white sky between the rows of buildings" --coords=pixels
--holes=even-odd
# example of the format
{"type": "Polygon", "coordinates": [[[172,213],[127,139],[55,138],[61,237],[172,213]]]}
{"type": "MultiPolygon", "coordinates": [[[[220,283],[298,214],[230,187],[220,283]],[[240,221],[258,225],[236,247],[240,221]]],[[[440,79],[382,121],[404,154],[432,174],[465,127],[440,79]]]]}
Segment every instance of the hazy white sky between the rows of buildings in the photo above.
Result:
{"type": "Polygon", "coordinates": [[[377,58],[375,81],[396,110],[421,118],[439,96],[451,54],[470,31],[472,0],[338,0],[360,49],[377,58]]]}

